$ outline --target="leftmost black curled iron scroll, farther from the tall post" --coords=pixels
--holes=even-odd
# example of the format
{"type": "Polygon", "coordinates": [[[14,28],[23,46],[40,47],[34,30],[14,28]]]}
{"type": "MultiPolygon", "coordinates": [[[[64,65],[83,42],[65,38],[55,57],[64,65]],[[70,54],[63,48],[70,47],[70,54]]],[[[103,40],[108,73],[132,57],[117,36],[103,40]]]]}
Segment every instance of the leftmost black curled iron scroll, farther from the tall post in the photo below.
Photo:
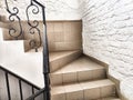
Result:
{"type": "Polygon", "coordinates": [[[9,12],[9,21],[10,22],[16,22],[16,19],[18,20],[19,23],[19,28],[20,31],[18,32],[17,29],[14,29],[13,27],[9,29],[9,34],[10,37],[14,38],[14,39],[19,39],[19,37],[22,36],[22,26],[21,26],[21,19],[19,18],[18,13],[19,13],[19,9],[17,7],[12,8],[12,11],[9,9],[8,6],[8,1],[6,0],[6,7],[7,7],[7,11],[9,12]]]}

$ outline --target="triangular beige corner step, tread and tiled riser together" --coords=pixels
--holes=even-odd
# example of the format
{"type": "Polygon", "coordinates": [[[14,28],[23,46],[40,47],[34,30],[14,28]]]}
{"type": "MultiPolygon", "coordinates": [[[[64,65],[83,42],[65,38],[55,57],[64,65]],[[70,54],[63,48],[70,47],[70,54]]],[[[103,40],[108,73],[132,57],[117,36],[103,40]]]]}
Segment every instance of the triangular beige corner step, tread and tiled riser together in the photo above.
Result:
{"type": "Polygon", "coordinates": [[[50,73],[52,86],[106,78],[105,68],[82,56],[63,68],[50,73]]]}

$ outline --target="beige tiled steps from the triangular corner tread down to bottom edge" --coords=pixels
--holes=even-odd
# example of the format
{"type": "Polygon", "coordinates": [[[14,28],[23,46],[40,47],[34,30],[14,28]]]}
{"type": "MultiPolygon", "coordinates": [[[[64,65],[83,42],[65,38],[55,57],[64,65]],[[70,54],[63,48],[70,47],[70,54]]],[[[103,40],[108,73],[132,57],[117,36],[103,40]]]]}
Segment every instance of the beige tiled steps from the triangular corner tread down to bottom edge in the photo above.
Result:
{"type": "Polygon", "coordinates": [[[51,72],[50,80],[51,100],[120,100],[105,68],[86,56],[51,72]]]}

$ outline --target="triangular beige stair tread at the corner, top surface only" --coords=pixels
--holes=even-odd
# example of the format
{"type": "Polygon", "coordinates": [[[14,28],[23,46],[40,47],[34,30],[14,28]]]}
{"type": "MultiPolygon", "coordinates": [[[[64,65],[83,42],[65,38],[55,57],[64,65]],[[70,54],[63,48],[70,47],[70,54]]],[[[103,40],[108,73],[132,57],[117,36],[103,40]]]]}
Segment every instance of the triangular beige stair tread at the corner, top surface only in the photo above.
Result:
{"type": "Polygon", "coordinates": [[[63,68],[52,72],[51,74],[68,73],[75,71],[88,71],[88,70],[96,70],[96,69],[105,69],[105,68],[93,62],[88,57],[83,56],[76,59],[75,61],[64,66],[63,68]]]}

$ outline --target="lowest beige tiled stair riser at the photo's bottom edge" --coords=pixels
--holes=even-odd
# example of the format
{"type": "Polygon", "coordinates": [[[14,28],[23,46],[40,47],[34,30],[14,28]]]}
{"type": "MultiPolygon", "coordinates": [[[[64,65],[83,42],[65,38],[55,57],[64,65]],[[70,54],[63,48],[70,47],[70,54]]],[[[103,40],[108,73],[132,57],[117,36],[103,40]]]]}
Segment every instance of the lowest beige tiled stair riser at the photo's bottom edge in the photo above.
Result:
{"type": "Polygon", "coordinates": [[[101,98],[113,96],[114,89],[114,86],[84,89],[63,94],[55,94],[51,97],[51,100],[101,100],[101,98]]]}

